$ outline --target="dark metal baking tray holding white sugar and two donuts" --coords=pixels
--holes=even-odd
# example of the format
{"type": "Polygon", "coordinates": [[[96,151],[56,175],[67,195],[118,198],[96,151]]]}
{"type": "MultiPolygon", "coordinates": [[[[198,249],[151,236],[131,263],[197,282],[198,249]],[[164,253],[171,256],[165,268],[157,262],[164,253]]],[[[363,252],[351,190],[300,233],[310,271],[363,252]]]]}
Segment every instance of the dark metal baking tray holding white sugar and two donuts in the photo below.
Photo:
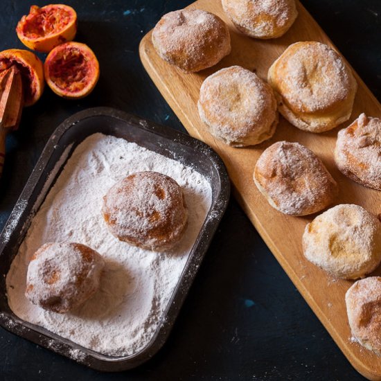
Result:
{"type": "Polygon", "coordinates": [[[87,109],[67,118],[57,127],[46,144],[0,236],[0,325],[31,342],[100,371],[123,371],[145,362],[166,342],[202,258],[227,208],[229,194],[229,177],[222,160],[202,141],[168,127],[105,107],[87,109]],[[19,319],[10,310],[6,296],[6,274],[19,245],[24,240],[30,221],[73,150],[87,136],[96,132],[135,142],[148,150],[180,161],[204,175],[212,188],[211,209],[190,251],[157,330],[141,351],[128,356],[108,356],[91,351],[69,339],[19,319]]]}

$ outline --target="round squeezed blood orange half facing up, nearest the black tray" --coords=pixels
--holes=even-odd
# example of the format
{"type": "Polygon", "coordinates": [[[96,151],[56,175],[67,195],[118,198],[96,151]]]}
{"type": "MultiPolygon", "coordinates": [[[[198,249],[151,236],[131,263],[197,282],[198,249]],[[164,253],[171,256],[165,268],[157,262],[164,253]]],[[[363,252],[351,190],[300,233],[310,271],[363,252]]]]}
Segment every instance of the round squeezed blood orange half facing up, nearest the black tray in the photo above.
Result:
{"type": "Polygon", "coordinates": [[[91,93],[99,78],[94,52],[80,42],[56,46],[44,63],[46,83],[64,98],[83,98],[91,93]]]}

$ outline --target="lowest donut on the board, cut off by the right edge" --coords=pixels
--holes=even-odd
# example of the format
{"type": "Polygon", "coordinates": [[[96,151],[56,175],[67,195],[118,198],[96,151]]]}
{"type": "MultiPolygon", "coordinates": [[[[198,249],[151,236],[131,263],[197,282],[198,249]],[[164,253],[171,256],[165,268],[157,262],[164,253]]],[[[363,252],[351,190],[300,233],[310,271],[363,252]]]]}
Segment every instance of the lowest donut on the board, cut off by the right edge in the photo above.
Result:
{"type": "Polygon", "coordinates": [[[346,292],[345,301],[353,337],[381,355],[381,277],[356,281],[346,292]]]}

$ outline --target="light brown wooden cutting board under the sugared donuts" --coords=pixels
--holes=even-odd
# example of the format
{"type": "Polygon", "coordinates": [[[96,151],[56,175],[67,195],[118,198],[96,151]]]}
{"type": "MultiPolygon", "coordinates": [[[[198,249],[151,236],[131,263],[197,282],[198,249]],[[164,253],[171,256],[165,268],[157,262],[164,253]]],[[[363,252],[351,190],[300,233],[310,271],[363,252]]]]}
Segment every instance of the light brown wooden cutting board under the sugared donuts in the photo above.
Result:
{"type": "MultiPolygon", "coordinates": [[[[276,141],[298,141],[315,152],[336,179],[340,188],[336,204],[359,204],[372,213],[380,213],[381,193],[347,179],[337,170],[333,161],[333,149],[339,129],[346,127],[361,112],[365,112],[369,116],[381,117],[381,105],[378,100],[356,75],[359,87],[351,121],[330,132],[312,134],[293,127],[281,118],[272,139],[250,148],[231,148],[215,140],[207,132],[197,112],[197,100],[203,80],[223,67],[240,65],[255,71],[260,78],[265,79],[272,62],[294,42],[313,40],[333,46],[330,39],[301,3],[297,3],[297,7],[299,17],[283,37],[260,40],[240,34],[224,15],[220,0],[196,1],[189,8],[213,12],[229,25],[231,54],[211,69],[200,73],[185,74],[161,60],[157,55],[152,46],[151,31],[141,41],[141,61],[189,134],[211,145],[220,154],[227,166],[233,192],[238,202],[344,355],[366,378],[381,380],[381,357],[350,340],[351,330],[346,317],[344,295],[353,282],[330,278],[321,269],[305,260],[303,256],[301,237],[305,224],[316,215],[301,218],[283,215],[267,204],[252,180],[254,165],[265,148],[276,141]]],[[[380,271],[376,273],[380,274],[380,271]]],[[[298,324],[302,325],[303,321],[298,324]]]]}

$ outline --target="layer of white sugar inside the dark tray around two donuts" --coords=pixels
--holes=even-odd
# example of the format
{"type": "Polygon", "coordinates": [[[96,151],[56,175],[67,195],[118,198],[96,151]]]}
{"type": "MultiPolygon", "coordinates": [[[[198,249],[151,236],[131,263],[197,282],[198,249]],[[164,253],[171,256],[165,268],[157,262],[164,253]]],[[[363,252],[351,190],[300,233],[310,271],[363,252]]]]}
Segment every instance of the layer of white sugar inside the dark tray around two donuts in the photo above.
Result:
{"type": "Polygon", "coordinates": [[[21,319],[109,355],[131,355],[152,339],[211,206],[209,182],[186,167],[135,143],[94,134],[73,152],[33,218],[6,278],[8,303],[21,319]],[[116,181],[154,170],[183,187],[188,227],[166,253],[132,247],[109,233],[100,213],[116,181]],[[67,314],[47,312],[24,296],[30,256],[45,242],[80,242],[105,258],[100,289],[67,314]]]}

